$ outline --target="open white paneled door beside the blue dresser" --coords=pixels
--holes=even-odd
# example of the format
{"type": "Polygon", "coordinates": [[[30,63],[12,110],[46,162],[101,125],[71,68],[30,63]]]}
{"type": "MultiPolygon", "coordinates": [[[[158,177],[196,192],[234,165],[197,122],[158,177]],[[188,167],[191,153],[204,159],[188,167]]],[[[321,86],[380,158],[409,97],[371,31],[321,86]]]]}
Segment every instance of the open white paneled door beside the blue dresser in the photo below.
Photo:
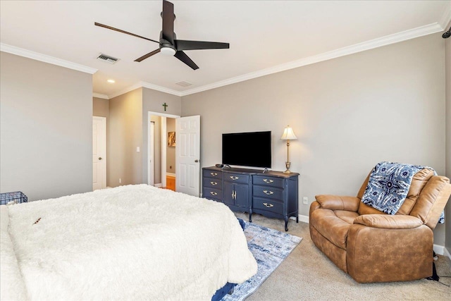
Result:
{"type": "Polygon", "coordinates": [[[199,197],[200,116],[175,119],[175,190],[199,197]]]}

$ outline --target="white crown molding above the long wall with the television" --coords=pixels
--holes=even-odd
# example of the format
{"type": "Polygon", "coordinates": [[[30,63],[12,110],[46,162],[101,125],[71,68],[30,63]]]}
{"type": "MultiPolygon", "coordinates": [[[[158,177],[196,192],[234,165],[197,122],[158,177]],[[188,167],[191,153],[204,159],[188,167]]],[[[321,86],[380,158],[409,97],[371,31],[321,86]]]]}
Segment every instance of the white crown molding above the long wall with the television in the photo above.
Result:
{"type": "Polygon", "coordinates": [[[204,85],[202,87],[197,87],[194,89],[186,90],[181,92],[182,96],[203,92],[206,90],[215,89],[217,87],[223,87],[226,85],[235,84],[237,82],[243,82],[245,80],[251,80],[253,78],[259,78],[261,76],[270,75],[273,73],[282,72],[285,70],[290,70],[294,68],[299,68],[302,66],[311,65],[312,63],[319,63],[321,61],[327,61],[330,59],[335,59],[340,56],[347,56],[349,54],[356,54],[357,52],[362,52],[378,47],[383,47],[385,45],[395,44],[397,42],[406,41],[407,39],[414,39],[416,37],[423,37],[424,35],[431,35],[435,32],[440,32],[443,27],[438,23],[432,23],[429,25],[424,25],[421,27],[416,27],[412,30],[405,30],[403,32],[397,32],[393,35],[387,35],[385,37],[379,37],[377,39],[371,39],[366,42],[359,44],[354,44],[352,46],[343,47],[340,49],[335,49],[333,51],[324,52],[323,54],[318,54],[316,56],[309,56],[304,59],[299,59],[297,61],[291,61],[289,63],[284,63],[282,65],[274,66],[271,68],[266,68],[252,73],[247,73],[245,75],[240,75],[235,78],[229,78],[227,80],[221,80],[220,82],[214,82],[210,85],[204,85]]]}

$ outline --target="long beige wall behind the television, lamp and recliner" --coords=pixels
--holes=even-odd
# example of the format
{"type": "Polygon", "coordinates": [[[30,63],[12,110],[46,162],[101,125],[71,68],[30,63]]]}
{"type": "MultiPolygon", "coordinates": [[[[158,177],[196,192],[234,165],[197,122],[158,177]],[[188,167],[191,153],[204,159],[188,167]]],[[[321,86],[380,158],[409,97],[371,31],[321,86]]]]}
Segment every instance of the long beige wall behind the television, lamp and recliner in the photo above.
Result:
{"type": "MultiPolygon", "coordinates": [[[[441,34],[440,34],[441,35],[441,34]]],[[[299,200],[356,195],[379,161],[445,174],[445,44],[428,35],[182,98],[202,116],[202,166],[221,162],[221,134],[271,130],[273,170],[285,169],[280,136],[290,124],[299,200]]],[[[299,203],[309,214],[309,204],[299,203]]],[[[449,218],[451,220],[451,217],[449,218]]],[[[443,225],[435,243],[444,245],[443,225]]]]}

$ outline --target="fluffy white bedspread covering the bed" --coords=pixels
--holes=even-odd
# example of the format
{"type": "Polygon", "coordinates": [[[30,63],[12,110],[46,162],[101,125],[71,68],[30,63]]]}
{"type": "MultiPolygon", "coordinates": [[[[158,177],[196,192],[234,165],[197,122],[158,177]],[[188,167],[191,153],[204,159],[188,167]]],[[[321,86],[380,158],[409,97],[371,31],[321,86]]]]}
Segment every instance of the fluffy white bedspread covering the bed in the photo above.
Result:
{"type": "Polygon", "coordinates": [[[257,272],[208,199],[128,185],[0,207],[1,300],[209,300],[257,272]]]}

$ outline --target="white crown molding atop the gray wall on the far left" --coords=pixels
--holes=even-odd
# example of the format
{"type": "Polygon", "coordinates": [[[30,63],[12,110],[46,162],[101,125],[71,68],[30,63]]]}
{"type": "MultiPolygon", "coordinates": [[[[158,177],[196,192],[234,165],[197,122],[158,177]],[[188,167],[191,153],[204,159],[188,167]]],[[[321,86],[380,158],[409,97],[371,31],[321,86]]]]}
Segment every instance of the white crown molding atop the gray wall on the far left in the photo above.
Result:
{"type": "Polygon", "coordinates": [[[8,54],[16,54],[17,56],[24,56],[28,59],[34,59],[36,61],[43,61],[44,63],[51,63],[52,65],[61,66],[89,74],[94,74],[97,69],[80,65],[78,63],[72,63],[63,59],[57,59],[54,56],[47,56],[46,54],[39,54],[35,51],[11,46],[8,44],[0,43],[0,51],[8,52],[8,54]]]}

